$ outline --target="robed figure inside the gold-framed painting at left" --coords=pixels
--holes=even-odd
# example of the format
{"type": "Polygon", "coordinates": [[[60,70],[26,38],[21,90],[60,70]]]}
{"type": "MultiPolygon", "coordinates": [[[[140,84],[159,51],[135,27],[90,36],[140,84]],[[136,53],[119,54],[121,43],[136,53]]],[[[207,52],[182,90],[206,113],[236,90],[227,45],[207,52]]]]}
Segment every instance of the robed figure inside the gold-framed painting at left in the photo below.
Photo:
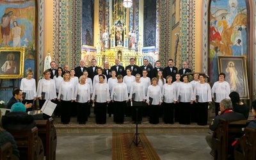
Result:
{"type": "Polygon", "coordinates": [[[4,62],[3,66],[1,67],[4,74],[17,74],[17,65],[14,61],[14,54],[10,53],[7,54],[7,61],[4,62]]]}

